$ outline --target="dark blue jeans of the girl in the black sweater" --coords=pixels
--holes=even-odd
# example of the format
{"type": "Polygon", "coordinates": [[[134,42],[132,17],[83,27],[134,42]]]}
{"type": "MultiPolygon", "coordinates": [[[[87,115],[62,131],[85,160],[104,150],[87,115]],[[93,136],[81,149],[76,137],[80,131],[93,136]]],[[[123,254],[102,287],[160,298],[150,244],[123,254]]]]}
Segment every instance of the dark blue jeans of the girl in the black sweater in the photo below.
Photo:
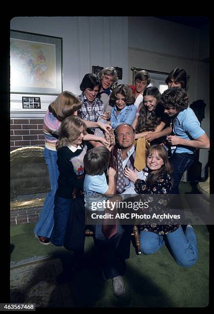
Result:
{"type": "Polygon", "coordinates": [[[56,246],[64,245],[71,202],[71,199],[64,199],[55,195],[55,206],[53,209],[54,227],[51,233],[50,241],[56,246]]]}

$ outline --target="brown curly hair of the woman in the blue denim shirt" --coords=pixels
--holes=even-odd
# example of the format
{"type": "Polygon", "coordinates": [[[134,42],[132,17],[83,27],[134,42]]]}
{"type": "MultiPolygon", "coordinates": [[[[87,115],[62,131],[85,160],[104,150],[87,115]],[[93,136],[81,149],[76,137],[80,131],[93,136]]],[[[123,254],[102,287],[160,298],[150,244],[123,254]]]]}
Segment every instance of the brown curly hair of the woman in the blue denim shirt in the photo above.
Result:
{"type": "Polygon", "coordinates": [[[132,89],[128,85],[121,84],[115,87],[112,91],[110,95],[109,105],[115,106],[117,94],[121,94],[125,97],[126,106],[132,105],[135,102],[135,97],[132,89]]]}

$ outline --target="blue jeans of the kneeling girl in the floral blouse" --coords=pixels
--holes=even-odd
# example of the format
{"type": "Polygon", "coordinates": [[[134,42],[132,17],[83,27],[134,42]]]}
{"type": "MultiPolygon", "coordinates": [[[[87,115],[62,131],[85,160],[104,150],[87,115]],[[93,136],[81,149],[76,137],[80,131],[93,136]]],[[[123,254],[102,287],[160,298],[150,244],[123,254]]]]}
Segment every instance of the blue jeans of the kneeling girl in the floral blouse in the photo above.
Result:
{"type": "MultiPolygon", "coordinates": [[[[187,227],[185,233],[182,227],[164,235],[170,251],[176,262],[183,267],[191,267],[197,262],[197,240],[193,228],[187,227]]],[[[141,251],[144,254],[157,252],[164,244],[164,237],[150,231],[140,232],[141,251]]]]}

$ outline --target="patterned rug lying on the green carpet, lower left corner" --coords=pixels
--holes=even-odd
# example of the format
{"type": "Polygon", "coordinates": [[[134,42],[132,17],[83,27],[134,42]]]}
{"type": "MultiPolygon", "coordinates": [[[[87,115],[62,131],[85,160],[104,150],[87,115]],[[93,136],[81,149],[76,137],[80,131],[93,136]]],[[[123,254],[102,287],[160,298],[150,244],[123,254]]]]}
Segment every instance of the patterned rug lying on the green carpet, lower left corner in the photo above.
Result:
{"type": "Polygon", "coordinates": [[[30,263],[10,271],[10,302],[35,303],[36,307],[63,307],[61,288],[56,285],[57,260],[30,263]]]}

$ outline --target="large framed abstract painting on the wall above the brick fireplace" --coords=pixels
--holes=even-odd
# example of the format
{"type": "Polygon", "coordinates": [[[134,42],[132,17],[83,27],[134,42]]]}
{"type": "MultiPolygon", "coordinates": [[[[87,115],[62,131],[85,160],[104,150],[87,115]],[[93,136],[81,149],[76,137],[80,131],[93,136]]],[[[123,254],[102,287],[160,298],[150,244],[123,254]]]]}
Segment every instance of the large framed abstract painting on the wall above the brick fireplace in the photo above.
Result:
{"type": "Polygon", "coordinates": [[[11,93],[58,95],[62,77],[62,38],[10,31],[11,93]]]}

